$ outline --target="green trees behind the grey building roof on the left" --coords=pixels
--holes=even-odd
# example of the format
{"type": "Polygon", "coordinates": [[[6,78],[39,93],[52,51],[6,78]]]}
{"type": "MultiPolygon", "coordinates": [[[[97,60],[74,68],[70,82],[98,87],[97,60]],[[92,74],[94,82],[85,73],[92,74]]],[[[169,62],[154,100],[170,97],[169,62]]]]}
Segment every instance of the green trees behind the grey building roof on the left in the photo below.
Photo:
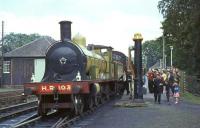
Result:
{"type": "Polygon", "coordinates": [[[39,34],[10,33],[4,37],[4,53],[30,43],[39,37],[41,37],[39,34]]]}

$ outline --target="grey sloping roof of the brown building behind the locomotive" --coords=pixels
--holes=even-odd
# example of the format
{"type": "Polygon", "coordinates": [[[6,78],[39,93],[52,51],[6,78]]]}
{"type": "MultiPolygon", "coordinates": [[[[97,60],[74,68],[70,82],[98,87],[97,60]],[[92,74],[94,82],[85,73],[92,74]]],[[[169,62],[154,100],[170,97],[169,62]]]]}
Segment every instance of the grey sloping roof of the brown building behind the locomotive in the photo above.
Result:
{"type": "Polygon", "coordinates": [[[56,43],[50,37],[41,37],[13,51],[4,54],[4,57],[45,57],[50,45],[56,43]]]}

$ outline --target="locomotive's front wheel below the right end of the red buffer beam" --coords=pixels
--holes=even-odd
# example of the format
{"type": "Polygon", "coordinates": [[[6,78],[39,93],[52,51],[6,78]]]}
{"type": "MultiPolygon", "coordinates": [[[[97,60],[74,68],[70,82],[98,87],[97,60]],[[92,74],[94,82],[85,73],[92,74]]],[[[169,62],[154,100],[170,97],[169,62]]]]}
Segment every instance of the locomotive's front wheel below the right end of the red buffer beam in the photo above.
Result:
{"type": "Polygon", "coordinates": [[[76,115],[82,114],[84,109],[84,102],[81,95],[72,95],[72,102],[74,105],[74,113],[76,115]]]}

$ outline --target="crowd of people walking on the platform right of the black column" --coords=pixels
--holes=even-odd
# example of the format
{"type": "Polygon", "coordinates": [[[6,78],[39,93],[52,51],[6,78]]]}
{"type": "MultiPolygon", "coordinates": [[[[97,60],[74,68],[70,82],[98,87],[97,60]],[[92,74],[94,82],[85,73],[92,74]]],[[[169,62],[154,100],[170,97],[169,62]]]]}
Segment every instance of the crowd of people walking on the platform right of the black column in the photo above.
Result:
{"type": "Polygon", "coordinates": [[[174,97],[174,103],[179,102],[180,97],[180,74],[177,69],[158,70],[151,69],[147,73],[148,88],[154,93],[155,103],[161,103],[161,94],[165,93],[167,102],[170,104],[170,96],[174,97]]]}

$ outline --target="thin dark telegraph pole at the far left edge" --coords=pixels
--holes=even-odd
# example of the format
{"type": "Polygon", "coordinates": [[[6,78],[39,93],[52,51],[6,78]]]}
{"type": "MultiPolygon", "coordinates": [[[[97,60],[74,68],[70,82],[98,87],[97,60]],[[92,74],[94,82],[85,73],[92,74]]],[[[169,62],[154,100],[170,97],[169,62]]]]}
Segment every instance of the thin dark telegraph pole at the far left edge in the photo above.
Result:
{"type": "Polygon", "coordinates": [[[3,87],[3,43],[4,43],[4,21],[2,21],[2,33],[1,33],[1,87],[3,87]]]}

